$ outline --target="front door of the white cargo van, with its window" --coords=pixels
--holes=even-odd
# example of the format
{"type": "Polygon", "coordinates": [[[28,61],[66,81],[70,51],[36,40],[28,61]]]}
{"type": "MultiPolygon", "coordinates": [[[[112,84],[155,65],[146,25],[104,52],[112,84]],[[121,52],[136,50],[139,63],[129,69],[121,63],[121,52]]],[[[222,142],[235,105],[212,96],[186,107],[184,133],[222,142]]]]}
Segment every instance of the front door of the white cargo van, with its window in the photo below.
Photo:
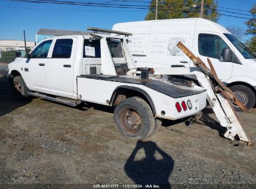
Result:
{"type": "MultiPolygon", "coordinates": [[[[197,52],[202,61],[207,63],[209,58],[214,66],[218,77],[221,81],[229,79],[232,75],[233,62],[224,62],[222,59],[222,51],[225,48],[230,48],[234,52],[234,49],[225,42],[224,39],[218,34],[211,32],[198,32],[198,39],[195,40],[194,52],[197,52]]],[[[209,65],[207,65],[209,67],[209,65]]]]}

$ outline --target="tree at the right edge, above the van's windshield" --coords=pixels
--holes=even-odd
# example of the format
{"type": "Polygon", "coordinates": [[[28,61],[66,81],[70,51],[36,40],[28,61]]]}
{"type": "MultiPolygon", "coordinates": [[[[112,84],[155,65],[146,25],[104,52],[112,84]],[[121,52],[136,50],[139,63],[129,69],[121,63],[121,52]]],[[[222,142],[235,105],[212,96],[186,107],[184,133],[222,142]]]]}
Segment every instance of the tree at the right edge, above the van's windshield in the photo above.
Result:
{"type": "Polygon", "coordinates": [[[246,34],[252,35],[252,38],[249,40],[249,49],[252,52],[256,52],[256,4],[252,6],[250,9],[250,13],[252,13],[252,18],[245,22],[248,29],[246,30],[246,34]]]}

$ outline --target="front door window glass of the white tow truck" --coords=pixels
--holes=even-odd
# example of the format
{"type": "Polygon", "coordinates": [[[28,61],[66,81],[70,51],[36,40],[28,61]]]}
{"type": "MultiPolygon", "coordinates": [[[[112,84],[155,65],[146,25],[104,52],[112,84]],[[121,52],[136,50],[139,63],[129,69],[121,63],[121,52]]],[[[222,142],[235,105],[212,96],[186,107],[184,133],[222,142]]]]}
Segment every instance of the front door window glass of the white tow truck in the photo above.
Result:
{"type": "Polygon", "coordinates": [[[38,45],[31,53],[31,58],[47,58],[52,40],[45,40],[38,45]]]}

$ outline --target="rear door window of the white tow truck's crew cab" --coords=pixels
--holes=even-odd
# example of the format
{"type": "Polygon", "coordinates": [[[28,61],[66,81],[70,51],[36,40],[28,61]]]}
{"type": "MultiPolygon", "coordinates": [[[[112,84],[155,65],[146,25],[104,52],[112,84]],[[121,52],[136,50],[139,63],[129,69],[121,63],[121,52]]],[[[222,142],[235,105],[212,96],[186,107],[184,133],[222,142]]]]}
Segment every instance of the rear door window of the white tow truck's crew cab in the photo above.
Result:
{"type": "Polygon", "coordinates": [[[72,39],[57,39],[52,52],[52,58],[70,58],[72,52],[72,39]]]}

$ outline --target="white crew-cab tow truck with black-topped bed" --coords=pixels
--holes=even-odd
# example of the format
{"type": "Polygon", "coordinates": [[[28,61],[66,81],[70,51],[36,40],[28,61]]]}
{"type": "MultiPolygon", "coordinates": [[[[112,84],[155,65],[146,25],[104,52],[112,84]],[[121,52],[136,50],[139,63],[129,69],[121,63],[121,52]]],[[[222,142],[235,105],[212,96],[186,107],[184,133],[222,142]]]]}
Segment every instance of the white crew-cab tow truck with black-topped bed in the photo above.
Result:
{"type": "Polygon", "coordinates": [[[45,39],[27,58],[9,64],[9,78],[23,96],[115,106],[116,127],[129,138],[144,139],[159,129],[161,119],[184,118],[206,107],[204,88],[148,77],[148,68],[136,74],[125,39],[97,33],[45,39]]]}

